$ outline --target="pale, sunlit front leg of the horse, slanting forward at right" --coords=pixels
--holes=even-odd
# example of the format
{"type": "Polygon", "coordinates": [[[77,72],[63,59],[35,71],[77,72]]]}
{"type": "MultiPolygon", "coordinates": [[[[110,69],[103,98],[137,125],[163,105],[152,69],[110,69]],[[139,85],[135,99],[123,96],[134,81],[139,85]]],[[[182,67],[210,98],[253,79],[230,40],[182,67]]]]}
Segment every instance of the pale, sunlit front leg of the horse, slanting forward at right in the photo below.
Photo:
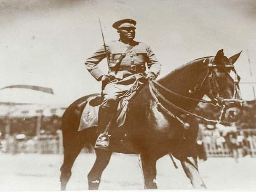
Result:
{"type": "Polygon", "coordinates": [[[206,188],[199,174],[196,158],[187,157],[187,159],[180,162],[192,186],[194,188],[206,188]]]}

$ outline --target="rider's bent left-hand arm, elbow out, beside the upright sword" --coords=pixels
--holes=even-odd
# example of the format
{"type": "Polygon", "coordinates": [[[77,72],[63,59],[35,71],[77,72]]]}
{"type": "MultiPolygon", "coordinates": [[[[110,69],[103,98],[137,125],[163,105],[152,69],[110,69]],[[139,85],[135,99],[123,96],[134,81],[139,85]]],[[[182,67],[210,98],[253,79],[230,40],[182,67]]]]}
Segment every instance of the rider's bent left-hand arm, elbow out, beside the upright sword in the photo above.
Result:
{"type": "MultiPolygon", "coordinates": [[[[106,46],[107,53],[109,54],[109,48],[106,46]]],[[[98,64],[101,60],[103,60],[106,57],[106,52],[104,49],[104,46],[101,46],[96,52],[92,54],[91,57],[89,57],[85,61],[85,67],[87,70],[91,73],[91,75],[97,80],[100,81],[101,77],[104,75],[104,73],[100,70],[98,64]]]]}

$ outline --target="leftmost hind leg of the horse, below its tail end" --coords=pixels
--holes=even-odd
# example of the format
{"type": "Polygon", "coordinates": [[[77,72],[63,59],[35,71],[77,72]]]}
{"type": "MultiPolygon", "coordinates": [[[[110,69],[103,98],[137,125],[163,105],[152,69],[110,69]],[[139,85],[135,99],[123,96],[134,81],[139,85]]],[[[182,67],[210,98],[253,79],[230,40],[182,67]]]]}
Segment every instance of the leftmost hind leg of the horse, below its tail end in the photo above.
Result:
{"type": "Polygon", "coordinates": [[[74,143],[72,146],[64,149],[64,161],[60,168],[60,188],[62,191],[66,190],[68,180],[70,179],[72,174],[71,168],[82,148],[83,145],[75,146],[74,143]]]}

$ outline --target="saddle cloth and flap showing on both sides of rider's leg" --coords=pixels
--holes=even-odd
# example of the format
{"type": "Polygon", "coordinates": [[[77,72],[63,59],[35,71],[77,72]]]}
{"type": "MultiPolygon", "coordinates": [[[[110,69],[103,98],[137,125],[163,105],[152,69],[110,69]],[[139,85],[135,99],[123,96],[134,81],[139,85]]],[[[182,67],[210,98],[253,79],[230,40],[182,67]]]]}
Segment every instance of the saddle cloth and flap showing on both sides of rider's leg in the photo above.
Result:
{"type": "MultiPolygon", "coordinates": [[[[133,86],[120,97],[120,101],[117,106],[117,116],[116,116],[116,125],[121,127],[124,125],[126,114],[128,111],[129,101],[133,99],[141,85],[145,83],[145,78],[141,77],[137,79],[133,86]]],[[[78,131],[83,131],[88,127],[98,126],[98,113],[100,104],[103,101],[103,96],[101,94],[95,96],[91,100],[88,100],[85,104],[82,116],[80,119],[78,131]]]]}

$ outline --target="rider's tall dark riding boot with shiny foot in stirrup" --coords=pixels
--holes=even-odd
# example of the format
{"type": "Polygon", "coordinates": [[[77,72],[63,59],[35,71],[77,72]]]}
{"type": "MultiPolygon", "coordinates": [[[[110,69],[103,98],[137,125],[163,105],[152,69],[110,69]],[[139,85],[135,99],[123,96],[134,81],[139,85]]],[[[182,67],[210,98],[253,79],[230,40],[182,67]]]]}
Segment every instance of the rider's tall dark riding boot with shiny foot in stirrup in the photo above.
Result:
{"type": "Polygon", "coordinates": [[[103,108],[100,107],[99,109],[99,116],[98,116],[98,136],[94,148],[100,149],[108,149],[109,146],[109,136],[108,132],[105,131],[108,124],[110,124],[114,111],[112,108],[103,108]]]}

